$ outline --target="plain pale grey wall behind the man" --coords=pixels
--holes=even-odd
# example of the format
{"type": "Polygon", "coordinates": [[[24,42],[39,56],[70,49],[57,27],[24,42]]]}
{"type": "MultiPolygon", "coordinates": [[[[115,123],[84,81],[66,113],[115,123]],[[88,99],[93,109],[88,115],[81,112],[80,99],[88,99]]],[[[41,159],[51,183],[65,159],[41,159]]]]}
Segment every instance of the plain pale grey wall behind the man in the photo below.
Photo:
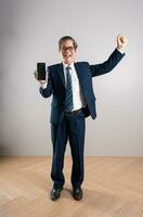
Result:
{"type": "Polygon", "coordinates": [[[128,38],[126,56],[94,78],[98,118],[86,120],[86,155],[143,155],[142,8],[141,0],[0,0],[0,155],[52,155],[51,98],[40,95],[34,71],[61,61],[58,39],[75,37],[77,61],[94,64],[118,34],[128,38]]]}

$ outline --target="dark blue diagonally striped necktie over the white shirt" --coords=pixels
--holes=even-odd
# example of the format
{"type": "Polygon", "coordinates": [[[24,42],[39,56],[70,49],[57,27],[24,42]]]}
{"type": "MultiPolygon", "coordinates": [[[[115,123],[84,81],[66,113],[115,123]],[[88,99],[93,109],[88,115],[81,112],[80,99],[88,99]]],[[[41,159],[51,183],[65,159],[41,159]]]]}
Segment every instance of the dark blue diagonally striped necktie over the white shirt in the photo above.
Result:
{"type": "Polygon", "coordinates": [[[73,103],[73,85],[72,85],[72,76],[69,73],[70,67],[66,67],[66,99],[65,99],[65,111],[70,112],[74,107],[73,103]]]}

